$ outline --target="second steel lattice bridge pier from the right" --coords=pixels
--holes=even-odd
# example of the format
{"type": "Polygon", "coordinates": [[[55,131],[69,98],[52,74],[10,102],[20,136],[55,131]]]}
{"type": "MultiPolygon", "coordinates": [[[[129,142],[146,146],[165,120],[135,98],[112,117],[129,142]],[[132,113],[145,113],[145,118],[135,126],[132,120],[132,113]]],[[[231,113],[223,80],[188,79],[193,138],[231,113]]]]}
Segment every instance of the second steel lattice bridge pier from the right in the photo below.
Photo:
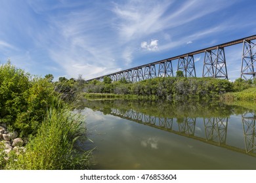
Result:
{"type": "Polygon", "coordinates": [[[203,77],[228,79],[224,48],[218,46],[215,50],[205,50],[203,77]]]}

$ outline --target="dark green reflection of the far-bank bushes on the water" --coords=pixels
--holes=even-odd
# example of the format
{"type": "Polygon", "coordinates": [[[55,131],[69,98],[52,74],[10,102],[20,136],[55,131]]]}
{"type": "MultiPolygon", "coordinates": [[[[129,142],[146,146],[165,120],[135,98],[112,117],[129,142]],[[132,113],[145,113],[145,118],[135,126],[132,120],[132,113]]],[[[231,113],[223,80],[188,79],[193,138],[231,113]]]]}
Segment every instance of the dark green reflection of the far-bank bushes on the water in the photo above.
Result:
{"type": "MultiPolygon", "coordinates": [[[[225,105],[219,101],[202,101],[189,102],[183,101],[179,103],[163,102],[163,101],[85,101],[85,107],[97,108],[109,114],[110,108],[119,108],[124,112],[127,110],[135,110],[150,116],[160,118],[179,118],[179,122],[183,118],[211,118],[221,117],[226,118],[232,114],[242,114],[247,109],[236,105],[225,105]],[[108,108],[108,110],[106,109],[108,108]]],[[[182,120],[183,119],[183,120],[182,120]]]]}

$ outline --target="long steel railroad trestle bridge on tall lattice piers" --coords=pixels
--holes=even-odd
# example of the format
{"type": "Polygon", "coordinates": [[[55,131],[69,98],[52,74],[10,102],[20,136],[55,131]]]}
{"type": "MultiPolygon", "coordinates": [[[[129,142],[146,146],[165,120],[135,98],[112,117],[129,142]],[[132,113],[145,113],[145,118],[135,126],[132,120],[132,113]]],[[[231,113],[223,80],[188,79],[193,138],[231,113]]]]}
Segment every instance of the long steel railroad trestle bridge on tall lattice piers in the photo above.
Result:
{"type": "MultiPolygon", "coordinates": [[[[178,60],[177,71],[182,71],[186,77],[196,77],[196,68],[194,64],[194,55],[204,53],[203,60],[203,77],[224,78],[228,79],[228,72],[226,70],[226,58],[224,48],[234,44],[243,43],[242,49],[242,65],[241,78],[245,80],[256,77],[256,35],[245,37],[235,41],[226,42],[202,50],[197,50],[173,58],[162,59],[160,61],[140,65],[108,76],[112,81],[118,81],[122,78],[130,82],[138,82],[140,80],[147,80],[150,78],[174,76],[172,62],[178,60]]],[[[103,81],[104,76],[99,76],[91,80],[103,81]]]]}

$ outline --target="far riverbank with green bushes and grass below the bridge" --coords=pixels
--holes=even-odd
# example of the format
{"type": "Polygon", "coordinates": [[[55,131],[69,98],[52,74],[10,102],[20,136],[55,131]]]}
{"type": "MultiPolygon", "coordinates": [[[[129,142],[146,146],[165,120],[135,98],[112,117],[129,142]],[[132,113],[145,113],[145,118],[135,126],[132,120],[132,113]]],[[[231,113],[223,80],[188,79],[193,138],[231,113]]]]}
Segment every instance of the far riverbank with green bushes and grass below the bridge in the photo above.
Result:
{"type": "Polygon", "coordinates": [[[140,82],[93,80],[84,86],[86,99],[256,100],[256,80],[216,78],[152,78],[140,82]]]}

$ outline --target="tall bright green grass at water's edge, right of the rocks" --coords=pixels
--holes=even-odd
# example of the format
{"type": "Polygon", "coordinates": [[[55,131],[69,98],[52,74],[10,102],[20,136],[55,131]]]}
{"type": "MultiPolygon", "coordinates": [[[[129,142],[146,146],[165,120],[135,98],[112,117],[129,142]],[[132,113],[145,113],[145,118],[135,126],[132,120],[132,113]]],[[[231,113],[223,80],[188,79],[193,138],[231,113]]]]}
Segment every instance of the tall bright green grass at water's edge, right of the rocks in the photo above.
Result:
{"type": "Polygon", "coordinates": [[[81,116],[68,108],[50,107],[26,152],[9,161],[6,169],[88,169],[91,152],[75,148],[75,141],[84,133],[81,122],[81,116]]]}

